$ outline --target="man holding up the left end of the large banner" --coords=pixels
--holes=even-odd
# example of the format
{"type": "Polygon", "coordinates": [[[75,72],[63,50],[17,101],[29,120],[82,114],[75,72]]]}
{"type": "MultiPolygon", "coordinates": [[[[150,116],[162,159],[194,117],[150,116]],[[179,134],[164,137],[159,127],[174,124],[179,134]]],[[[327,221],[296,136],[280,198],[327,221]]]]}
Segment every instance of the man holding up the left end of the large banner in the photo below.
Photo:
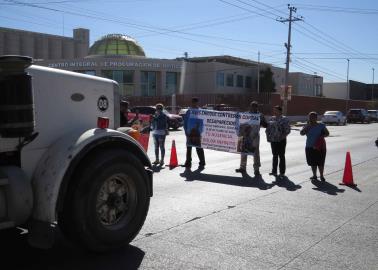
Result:
{"type": "Polygon", "coordinates": [[[186,135],[186,161],[184,167],[190,168],[192,167],[192,147],[196,147],[199,162],[199,169],[203,169],[205,167],[205,153],[203,148],[201,147],[201,138],[199,132],[199,126],[195,126],[189,130],[189,117],[190,111],[198,109],[198,102],[199,99],[197,97],[192,98],[192,104],[190,108],[187,110],[185,117],[184,117],[184,130],[186,135]]]}

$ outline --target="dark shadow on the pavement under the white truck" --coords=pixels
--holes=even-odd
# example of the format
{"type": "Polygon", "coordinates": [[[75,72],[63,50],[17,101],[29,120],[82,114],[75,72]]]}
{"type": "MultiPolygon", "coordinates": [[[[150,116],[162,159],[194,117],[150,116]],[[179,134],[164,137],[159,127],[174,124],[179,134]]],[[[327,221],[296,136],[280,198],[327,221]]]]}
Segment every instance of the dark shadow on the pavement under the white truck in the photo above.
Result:
{"type": "MultiPolygon", "coordinates": [[[[59,237],[58,237],[59,238],[59,237]]],[[[16,230],[0,234],[1,269],[138,269],[145,253],[128,245],[106,254],[89,253],[57,240],[49,250],[32,248],[16,230]]]]}

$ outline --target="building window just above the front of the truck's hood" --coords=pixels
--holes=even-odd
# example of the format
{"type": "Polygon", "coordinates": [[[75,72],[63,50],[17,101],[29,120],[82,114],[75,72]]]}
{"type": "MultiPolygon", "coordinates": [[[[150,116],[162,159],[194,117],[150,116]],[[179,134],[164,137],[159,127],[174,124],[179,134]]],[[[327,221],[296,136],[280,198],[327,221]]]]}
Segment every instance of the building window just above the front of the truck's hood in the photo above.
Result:
{"type": "Polygon", "coordinates": [[[119,84],[121,96],[134,95],[134,70],[102,70],[101,76],[119,84]]]}

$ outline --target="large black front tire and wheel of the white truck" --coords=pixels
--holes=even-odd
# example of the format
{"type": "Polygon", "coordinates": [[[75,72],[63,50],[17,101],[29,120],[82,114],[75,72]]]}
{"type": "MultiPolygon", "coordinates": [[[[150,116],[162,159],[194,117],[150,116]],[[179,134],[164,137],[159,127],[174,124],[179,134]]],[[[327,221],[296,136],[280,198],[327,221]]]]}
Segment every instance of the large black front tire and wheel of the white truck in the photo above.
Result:
{"type": "Polygon", "coordinates": [[[131,153],[95,153],[75,173],[58,225],[73,242],[106,252],[130,243],[146,219],[147,173],[131,153]]]}

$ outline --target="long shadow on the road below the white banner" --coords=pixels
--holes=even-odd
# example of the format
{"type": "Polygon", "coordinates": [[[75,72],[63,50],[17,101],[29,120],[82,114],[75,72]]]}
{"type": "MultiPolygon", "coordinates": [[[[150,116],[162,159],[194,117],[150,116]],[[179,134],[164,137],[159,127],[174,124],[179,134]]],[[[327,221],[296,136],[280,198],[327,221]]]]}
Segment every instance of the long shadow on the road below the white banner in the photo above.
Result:
{"type": "Polygon", "coordinates": [[[237,176],[224,176],[224,175],[214,175],[201,173],[202,170],[197,169],[192,171],[189,168],[186,168],[183,173],[180,173],[180,176],[185,178],[185,181],[204,181],[212,182],[224,185],[234,185],[241,187],[255,187],[262,190],[270,189],[274,185],[266,183],[264,179],[259,177],[251,177],[247,173],[242,174],[242,177],[237,176]]]}

